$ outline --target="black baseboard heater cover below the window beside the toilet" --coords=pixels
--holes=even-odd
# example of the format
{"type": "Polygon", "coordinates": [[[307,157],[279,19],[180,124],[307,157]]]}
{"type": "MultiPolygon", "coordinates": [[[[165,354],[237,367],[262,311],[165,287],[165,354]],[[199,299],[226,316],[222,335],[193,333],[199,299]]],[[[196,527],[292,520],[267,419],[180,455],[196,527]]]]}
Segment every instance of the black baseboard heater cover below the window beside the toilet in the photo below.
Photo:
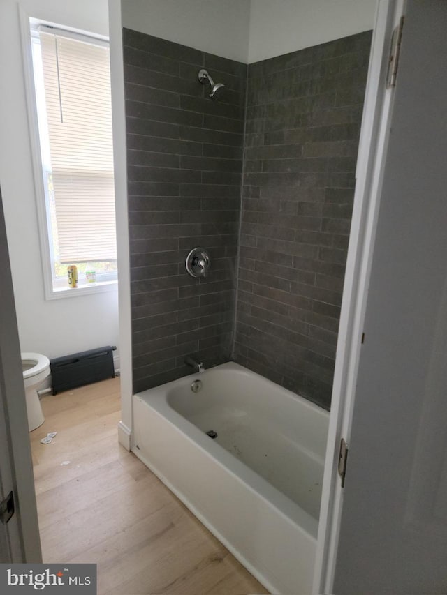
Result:
{"type": "Polygon", "coordinates": [[[106,378],[115,377],[113,351],[116,347],[100,347],[50,360],[53,395],[106,378]]]}

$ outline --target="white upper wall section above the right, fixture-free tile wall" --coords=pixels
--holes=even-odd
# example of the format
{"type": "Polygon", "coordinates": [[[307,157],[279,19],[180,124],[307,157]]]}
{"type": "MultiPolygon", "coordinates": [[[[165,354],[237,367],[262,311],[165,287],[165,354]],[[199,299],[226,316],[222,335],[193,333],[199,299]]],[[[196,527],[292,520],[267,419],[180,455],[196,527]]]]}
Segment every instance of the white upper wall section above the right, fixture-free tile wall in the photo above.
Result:
{"type": "Polygon", "coordinates": [[[249,63],[374,27],[375,0],[251,0],[249,63]]]}

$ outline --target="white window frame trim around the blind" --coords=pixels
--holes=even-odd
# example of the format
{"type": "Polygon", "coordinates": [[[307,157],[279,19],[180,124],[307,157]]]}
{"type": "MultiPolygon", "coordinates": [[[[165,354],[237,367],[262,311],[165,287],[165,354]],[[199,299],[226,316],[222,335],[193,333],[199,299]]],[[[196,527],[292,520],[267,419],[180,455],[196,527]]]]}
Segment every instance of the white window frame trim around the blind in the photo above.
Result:
{"type": "Polygon", "coordinates": [[[76,289],[68,287],[54,288],[53,287],[53,248],[52,242],[50,242],[51,229],[50,219],[47,213],[48,197],[46,184],[43,179],[43,160],[41,154],[41,139],[39,135],[38,127],[38,111],[36,105],[36,93],[34,86],[34,66],[32,57],[31,47],[31,29],[37,29],[39,25],[47,25],[64,31],[68,35],[75,36],[76,38],[88,38],[89,40],[94,39],[98,43],[107,43],[108,38],[100,35],[92,35],[87,31],[80,31],[79,29],[64,28],[60,24],[55,24],[48,21],[37,20],[30,17],[23,10],[19,11],[20,15],[20,29],[22,33],[22,48],[23,48],[23,60],[24,60],[24,83],[25,83],[25,95],[27,100],[28,110],[28,121],[29,121],[29,135],[31,142],[31,160],[33,163],[34,172],[34,186],[36,190],[36,213],[38,219],[38,232],[41,244],[41,264],[42,264],[42,276],[43,276],[43,287],[46,300],[53,299],[65,299],[71,297],[85,296],[89,294],[98,294],[101,292],[117,291],[117,278],[110,279],[106,275],[101,278],[97,277],[95,285],[80,285],[76,289]]]}

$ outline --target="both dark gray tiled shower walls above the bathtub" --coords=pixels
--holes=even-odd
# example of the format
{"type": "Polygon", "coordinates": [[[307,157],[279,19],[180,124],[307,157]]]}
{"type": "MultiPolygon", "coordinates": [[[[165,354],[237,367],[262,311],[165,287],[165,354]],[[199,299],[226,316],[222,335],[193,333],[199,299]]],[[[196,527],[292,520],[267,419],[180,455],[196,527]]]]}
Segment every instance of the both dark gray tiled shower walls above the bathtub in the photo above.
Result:
{"type": "Polygon", "coordinates": [[[370,41],[251,64],[245,114],[246,65],[124,29],[135,393],[198,354],[329,408],[370,41]]]}

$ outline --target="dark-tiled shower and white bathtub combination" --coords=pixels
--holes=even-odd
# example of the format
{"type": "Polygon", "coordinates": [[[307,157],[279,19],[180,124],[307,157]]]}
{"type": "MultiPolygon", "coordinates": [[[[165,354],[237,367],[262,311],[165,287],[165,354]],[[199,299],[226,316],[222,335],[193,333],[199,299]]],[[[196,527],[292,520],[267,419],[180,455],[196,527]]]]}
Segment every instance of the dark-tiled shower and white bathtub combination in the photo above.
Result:
{"type": "Polygon", "coordinates": [[[124,29],[134,452],[270,592],[312,592],[370,42],[124,29]]]}

